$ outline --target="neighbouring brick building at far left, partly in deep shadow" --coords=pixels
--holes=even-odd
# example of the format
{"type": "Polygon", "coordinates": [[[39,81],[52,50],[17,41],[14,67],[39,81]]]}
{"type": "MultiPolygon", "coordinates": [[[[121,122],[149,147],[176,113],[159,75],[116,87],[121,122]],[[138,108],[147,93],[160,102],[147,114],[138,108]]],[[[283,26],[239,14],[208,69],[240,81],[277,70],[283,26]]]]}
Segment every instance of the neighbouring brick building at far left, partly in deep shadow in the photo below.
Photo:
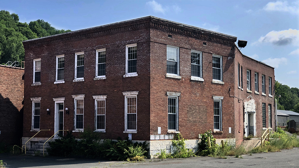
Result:
{"type": "Polygon", "coordinates": [[[24,68],[0,65],[0,143],[20,145],[23,98],[24,68]]]}

